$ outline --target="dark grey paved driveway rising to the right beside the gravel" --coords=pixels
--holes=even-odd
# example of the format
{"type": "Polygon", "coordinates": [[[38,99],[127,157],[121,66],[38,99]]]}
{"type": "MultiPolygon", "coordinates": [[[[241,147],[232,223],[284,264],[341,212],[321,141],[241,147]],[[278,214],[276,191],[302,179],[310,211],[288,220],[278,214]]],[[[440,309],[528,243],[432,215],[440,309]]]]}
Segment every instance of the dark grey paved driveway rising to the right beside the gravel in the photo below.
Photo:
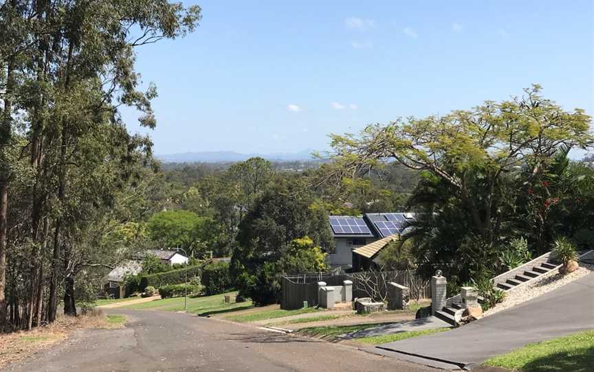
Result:
{"type": "Polygon", "coordinates": [[[594,274],[449,332],[374,349],[382,355],[434,367],[471,369],[528,343],[588,329],[594,329],[594,274]]]}

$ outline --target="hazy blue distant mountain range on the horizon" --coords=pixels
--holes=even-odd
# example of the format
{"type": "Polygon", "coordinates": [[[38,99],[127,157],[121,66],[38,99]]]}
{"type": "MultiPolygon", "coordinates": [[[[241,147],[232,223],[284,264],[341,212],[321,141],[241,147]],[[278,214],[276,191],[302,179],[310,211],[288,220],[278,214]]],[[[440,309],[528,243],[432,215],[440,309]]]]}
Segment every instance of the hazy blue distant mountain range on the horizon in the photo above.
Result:
{"type": "Polygon", "coordinates": [[[157,159],[164,163],[223,163],[228,161],[245,161],[255,156],[270,161],[300,161],[313,160],[311,153],[314,150],[304,150],[301,152],[276,152],[272,154],[241,154],[234,151],[203,151],[203,152],[183,152],[181,154],[163,154],[155,155],[157,159]]]}

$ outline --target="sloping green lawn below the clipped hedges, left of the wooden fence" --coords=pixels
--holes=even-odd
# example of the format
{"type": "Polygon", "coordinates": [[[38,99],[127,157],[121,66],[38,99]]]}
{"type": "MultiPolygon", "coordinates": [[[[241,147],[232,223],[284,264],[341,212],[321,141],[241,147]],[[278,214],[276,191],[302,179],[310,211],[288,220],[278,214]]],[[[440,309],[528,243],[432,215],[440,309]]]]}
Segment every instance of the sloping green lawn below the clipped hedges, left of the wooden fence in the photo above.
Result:
{"type": "MultiPolygon", "coordinates": [[[[237,294],[237,292],[228,292],[195,298],[188,297],[188,313],[197,315],[210,315],[245,310],[249,309],[250,307],[254,307],[252,305],[252,301],[225,303],[225,294],[237,294]]],[[[132,305],[124,305],[122,308],[135,310],[159,310],[168,312],[183,311],[184,297],[173,297],[170,299],[159,299],[144,303],[135,303],[132,305]]]]}

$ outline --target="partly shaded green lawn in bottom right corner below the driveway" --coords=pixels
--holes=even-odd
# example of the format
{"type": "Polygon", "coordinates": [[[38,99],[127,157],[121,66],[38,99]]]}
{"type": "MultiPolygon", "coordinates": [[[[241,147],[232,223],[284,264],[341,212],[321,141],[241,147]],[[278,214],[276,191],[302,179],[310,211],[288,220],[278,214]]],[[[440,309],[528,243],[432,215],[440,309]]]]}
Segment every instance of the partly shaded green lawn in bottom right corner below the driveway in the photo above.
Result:
{"type": "Polygon", "coordinates": [[[522,372],[592,371],[594,366],[594,330],[526,345],[484,364],[522,372]]]}

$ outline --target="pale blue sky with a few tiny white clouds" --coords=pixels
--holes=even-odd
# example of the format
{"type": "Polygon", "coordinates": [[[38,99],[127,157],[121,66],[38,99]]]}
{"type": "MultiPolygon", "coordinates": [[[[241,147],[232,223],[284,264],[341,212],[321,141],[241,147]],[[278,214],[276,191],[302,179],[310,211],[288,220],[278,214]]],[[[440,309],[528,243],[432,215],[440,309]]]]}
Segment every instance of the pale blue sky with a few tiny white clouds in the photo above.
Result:
{"type": "Polygon", "coordinates": [[[469,109],[533,83],[594,113],[594,1],[199,0],[193,34],[137,49],[156,154],[327,150],[330,133],[469,109]]]}

